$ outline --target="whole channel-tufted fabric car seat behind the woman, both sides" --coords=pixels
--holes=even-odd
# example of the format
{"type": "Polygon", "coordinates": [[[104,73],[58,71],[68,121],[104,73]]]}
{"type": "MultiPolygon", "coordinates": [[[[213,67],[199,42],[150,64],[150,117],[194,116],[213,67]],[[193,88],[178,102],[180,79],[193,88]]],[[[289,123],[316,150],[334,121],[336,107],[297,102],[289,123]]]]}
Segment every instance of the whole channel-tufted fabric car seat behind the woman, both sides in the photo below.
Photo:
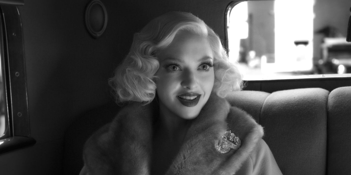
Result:
{"type": "MultiPolygon", "coordinates": [[[[331,92],[320,88],[238,91],[235,105],[264,127],[283,174],[349,174],[351,172],[351,86],[331,92]]],[[[82,147],[120,109],[108,104],[82,114],[67,130],[64,174],[79,174],[82,147]]]]}

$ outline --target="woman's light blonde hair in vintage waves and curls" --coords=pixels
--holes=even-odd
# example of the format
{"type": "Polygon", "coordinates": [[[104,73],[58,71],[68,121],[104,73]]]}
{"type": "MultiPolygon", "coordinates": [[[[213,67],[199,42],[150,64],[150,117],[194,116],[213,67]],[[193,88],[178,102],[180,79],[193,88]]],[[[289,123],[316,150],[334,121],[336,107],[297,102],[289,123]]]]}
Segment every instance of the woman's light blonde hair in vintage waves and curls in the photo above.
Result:
{"type": "Polygon", "coordinates": [[[230,63],[219,36],[205,22],[191,13],[169,12],[150,21],[134,35],[129,54],[108,80],[115,92],[117,103],[145,102],[155,98],[159,61],[155,52],[168,47],[180,31],[205,36],[214,54],[213,90],[219,97],[241,90],[242,75],[237,64],[230,63]]]}

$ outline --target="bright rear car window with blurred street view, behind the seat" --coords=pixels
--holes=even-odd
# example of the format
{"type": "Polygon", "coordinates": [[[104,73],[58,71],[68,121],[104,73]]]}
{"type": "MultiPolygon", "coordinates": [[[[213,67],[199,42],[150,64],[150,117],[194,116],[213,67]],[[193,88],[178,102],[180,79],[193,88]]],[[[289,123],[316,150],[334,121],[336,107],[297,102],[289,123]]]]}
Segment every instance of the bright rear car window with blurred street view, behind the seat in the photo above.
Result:
{"type": "Polygon", "coordinates": [[[351,73],[349,0],[244,1],[227,14],[229,59],[246,80],[351,73]]]}

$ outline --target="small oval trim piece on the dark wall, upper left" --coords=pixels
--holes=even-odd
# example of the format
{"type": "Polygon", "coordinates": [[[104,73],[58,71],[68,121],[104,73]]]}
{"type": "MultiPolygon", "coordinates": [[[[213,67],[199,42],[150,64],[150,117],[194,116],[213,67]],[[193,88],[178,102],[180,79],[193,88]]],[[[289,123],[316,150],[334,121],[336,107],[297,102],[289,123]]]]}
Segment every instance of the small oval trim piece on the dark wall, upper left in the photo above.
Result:
{"type": "Polygon", "coordinates": [[[86,9],[85,9],[85,26],[88,30],[88,32],[96,39],[98,37],[100,37],[107,26],[107,11],[106,8],[104,6],[104,4],[102,4],[102,2],[100,0],[92,0],[88,3],[86,9]],[[102,13],[104,13],[102,16],[96,16],[96,18],[91,19],[91,15],[92,11],[96,11],[93,8],[99,8],[98,10],[102,11],[102,13]],[[102,24],[102,25],[101,25],[102,24]],[[96,29],[96,27],[94,28],[93,26],[97,26],[100,25],[98,28],[98,30],[96,29]]]}

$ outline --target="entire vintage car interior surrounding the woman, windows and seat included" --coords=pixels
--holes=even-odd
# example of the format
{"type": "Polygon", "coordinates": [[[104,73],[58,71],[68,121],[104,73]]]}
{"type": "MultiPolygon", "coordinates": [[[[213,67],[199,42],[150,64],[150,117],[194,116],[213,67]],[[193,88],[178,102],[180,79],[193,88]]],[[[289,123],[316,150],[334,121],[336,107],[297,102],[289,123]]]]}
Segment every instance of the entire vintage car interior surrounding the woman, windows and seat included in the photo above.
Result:
{"type": "Polygon", "coordinates": [[[79,174],[122,108],[108,79],[134,33],[170,11],[220,37],[244,75],[231,104],[283,174],[351,172],[350,0],[0,0],[0,174],[79,174]]]}

